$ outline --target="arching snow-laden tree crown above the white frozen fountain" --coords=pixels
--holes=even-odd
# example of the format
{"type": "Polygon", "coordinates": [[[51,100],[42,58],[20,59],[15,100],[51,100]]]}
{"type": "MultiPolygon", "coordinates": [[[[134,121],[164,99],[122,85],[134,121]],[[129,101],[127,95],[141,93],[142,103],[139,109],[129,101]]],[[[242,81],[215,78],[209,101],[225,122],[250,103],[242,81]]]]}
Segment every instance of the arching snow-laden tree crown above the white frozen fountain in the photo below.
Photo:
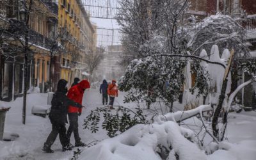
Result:
{"type": "Polygon", "coordinates": [[[189,33],[186,35],[187,49],[192,55],[199,55],[202,49],[210,52],[212,45],[218,45],[220,52],[233,48],[236,51],[235,57],[241,58],[248,53],[246,29],[239,23],[242,20],[221,13],[197,23],[191,20],[184,28],[189,33]]]}

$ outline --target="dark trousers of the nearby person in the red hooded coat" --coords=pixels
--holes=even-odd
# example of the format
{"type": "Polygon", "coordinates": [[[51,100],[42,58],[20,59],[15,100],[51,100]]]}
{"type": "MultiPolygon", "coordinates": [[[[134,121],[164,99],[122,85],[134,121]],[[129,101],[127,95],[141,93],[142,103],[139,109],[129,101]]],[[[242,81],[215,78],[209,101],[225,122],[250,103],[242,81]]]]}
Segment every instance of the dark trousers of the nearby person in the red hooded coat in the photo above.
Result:
{"type": "Polygon", "coordinates": [[[68,142],[70,142],[70,137],[72,132],[74,132],[74,138],[76,143],[79,143],[81,138],[78,133],[78,113],[68,113],[69,127],[67,131],[68,142]]]}

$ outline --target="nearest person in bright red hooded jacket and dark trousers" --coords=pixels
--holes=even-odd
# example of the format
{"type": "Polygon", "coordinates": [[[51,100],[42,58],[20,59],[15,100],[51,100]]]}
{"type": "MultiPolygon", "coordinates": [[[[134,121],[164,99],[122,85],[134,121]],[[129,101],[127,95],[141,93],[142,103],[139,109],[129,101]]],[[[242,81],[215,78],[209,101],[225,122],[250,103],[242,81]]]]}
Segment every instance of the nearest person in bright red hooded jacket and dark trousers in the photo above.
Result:
{"type": "MultiPolygon", "coordinates": [[[[71,100],[74,100],[74,102],[77,102],[79,104],[82,104],[84,90],[87,88],[90,88],[90,83],[87,80],[83,80],[76,84],[75,86],[72,86],[68,90],[68,98],[71,100]]],[[[82,108],[76,108],[74,106],[68,106],[68,120],[69,120],[69,127],[67,131],[67,138],[70,142],[70,136],[72,132],[74,132],[75,137],[75,146],[84,146],[84,143],[81,142],[81,138],[79,137],[78,133],[78,116],[81,116],[82,108]]]]}

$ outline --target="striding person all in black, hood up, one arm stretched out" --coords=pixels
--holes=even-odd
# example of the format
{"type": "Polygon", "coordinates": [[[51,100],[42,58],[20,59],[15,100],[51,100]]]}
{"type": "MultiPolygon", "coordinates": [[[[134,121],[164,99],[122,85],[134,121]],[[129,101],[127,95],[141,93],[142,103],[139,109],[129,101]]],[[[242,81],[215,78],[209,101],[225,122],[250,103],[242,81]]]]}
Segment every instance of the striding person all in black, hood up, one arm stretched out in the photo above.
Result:
{"type": "Polygon", "coordinates": [[[70,145],[66,136],[65,123],[67,122],[68,106],[74,106],[77,108],[82,108],[81,104],[68,99],[66,93],[67,81],[65,79],[60,79],[57,86],[57,91],[52,97],[52,106],[49,113],[49,118],[52,124],[52,131],[49,134],[47,140],[44,143],[43,150],[47,153],[54,152],[51,150],[51,145],[56,140],[58,134],[60,134],[60,143],[62,145],[62,150],[70,150],[70,145]]]}

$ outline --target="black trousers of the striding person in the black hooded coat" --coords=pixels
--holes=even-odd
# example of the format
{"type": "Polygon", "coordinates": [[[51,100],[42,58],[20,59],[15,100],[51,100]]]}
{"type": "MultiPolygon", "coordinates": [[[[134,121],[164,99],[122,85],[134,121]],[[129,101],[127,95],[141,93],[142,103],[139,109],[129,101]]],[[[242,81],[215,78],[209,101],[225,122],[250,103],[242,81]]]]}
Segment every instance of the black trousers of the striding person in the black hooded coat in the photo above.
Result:
{"type": "Polygon", "coordinates": [[[68,140],[67,140],[67,136],[66,136],[66,127],[65,127],[65,122],[58,122],[56,120],[51,120],[51,124],[52,124],[52,131],[49,134],[46,142],[45,142],[45,146],[51,148],[52,144],[54,143],[54,141],[56,140],[58,134],[60,137],[60,143],[62,145],[62,147],[65,147],[68,145],[68,140]]]}

